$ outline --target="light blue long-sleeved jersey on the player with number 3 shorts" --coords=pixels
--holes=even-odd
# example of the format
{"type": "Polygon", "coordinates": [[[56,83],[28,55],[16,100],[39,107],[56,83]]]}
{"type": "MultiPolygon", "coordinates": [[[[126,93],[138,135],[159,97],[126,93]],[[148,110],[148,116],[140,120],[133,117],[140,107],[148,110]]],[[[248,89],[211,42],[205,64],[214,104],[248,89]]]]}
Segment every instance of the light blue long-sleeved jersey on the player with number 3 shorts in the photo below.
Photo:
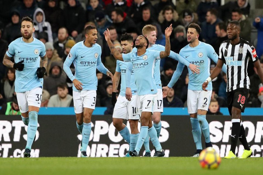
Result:
{"type": "MultiPolygon", "coordinates": [[[[86,47],[84,41],[75,44],[68,54],[63,69],[71,81],[75,78],[83,85],[83,90],[97,90],[98,78],[96,69],[103,74],[107,74],[108,69],[101,62],[101,46],[98,44],[86,47]],[[75,75],[70,70],[70,65],[74,61],[75,75]]],[[[79,91],[73,86],[74,91],[79,91]]]]}

